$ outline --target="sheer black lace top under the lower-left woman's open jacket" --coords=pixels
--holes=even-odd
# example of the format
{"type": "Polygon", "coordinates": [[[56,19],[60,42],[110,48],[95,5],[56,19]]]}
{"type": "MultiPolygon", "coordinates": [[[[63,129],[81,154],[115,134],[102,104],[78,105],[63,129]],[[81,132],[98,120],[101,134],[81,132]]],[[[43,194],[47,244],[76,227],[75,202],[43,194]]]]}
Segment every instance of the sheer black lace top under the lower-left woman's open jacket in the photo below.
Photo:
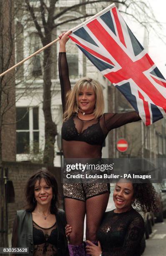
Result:
{"type": "Polygon", "coordinates": [[[42,228],[33,221],[34,256],[57,255],[57,241],[56,223],[50,228],[42,228]]]}

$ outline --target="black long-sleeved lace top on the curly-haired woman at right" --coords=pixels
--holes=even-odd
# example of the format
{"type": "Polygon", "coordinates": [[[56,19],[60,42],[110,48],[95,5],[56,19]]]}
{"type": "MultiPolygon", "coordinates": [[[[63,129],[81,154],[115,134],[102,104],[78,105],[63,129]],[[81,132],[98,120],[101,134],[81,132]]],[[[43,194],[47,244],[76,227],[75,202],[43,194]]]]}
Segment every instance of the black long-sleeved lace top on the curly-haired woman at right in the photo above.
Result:
{"type": "Polygon", "coordinates": [[[97,232],[102,256],[140,256],[143,234],[144,220],[136,210],[105,212],[97,232]]]}

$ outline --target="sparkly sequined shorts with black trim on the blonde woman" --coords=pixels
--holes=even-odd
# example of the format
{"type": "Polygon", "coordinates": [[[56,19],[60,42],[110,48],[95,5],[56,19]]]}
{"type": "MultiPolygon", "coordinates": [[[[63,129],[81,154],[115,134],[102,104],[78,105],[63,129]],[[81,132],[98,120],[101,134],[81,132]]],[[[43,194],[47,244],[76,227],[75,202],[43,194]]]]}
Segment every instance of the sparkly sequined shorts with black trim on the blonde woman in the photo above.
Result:
{"type": "Polygon", "coordinates": [[[110,184],[108,183],[72,183],[63,184],[64,198],[73,198],[86,201],[90,197],[110,193],[110,184]]]}

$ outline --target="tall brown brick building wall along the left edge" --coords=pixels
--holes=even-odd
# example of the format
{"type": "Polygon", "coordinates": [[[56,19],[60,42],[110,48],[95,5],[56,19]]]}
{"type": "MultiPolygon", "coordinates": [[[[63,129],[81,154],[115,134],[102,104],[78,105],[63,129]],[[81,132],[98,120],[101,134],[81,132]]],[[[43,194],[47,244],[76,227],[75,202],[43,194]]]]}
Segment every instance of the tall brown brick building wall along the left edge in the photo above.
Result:
{"type": "MultiPolygon", "coordinates": [[[[15,64],[14,49],[14,6],[13,1],[1,1],[1,22],[0,22],[0,46],[1,64],[0,73],[15,64]]],[[[15,70],[8,72],[0,80],[3,90],[0,102],[0,133],[2,138],[2,159],[3,161],[15,161],[16,154],[16,133],[15,133],[15,70]]]]}

